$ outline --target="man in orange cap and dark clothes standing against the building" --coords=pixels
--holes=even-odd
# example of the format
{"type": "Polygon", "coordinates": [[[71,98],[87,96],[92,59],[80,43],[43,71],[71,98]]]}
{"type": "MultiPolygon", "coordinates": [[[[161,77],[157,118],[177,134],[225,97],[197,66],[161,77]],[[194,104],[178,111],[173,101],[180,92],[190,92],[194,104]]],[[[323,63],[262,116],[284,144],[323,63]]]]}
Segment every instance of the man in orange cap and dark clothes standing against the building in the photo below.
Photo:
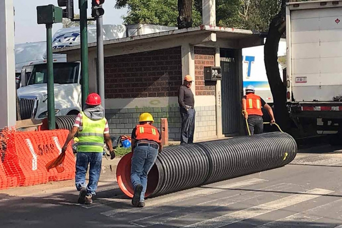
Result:
{"type": "Polygon", "coordinates": [[[191,91],[192,82],[192,77],[190,75],[185,76],[184,82],[179,87],[178,91],[179,112],[182,117],[181,144],[193,143],[196,111],[194,109],[195,100],[191,91]]]}

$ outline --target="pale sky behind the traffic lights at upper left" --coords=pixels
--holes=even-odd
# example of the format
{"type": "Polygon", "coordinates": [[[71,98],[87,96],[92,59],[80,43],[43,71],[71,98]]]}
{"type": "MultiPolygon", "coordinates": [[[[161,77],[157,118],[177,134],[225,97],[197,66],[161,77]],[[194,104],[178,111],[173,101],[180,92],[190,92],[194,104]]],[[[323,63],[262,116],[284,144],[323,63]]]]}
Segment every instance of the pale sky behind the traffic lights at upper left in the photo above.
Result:
{"type": "MultiPolygon", "coordinates": [[[[46,29],[44,24],[37,24],[37,9],[39,5],[54,4],[57,0],[13,0],[15,8],[15,43],[34,41],[46,41],[46,29]]],[[[127,9],[114,9],[115,0],[105,0],[103,8],[104,24],[122,24],[121,16],[127,13],[127,9]]],[[[74,12],[79,14],[78,0],[74,0],[74,12]]],[[[88,0],[88,17],[91,15],[91,0],[88,0]]],[[[52,35],[62,28],[62,23],[52,26],[52,35]]]]}

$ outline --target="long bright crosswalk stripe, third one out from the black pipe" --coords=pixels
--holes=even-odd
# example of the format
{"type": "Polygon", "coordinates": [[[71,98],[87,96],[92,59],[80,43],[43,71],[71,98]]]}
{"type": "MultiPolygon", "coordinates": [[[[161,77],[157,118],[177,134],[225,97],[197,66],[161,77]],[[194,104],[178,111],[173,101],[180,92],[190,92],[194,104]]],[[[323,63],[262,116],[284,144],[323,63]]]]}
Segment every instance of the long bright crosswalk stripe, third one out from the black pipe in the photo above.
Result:
{"type": "Polygon", "coordinates": [[[253,218],[262,214],[266,214],[272,211],[279,210],[284,207],[289,207],[295,204],[299,204],[314,198],[320,197],[322,195],[329,194],[334,191],[315,188],[306,192],[288,196],[279,200],[268,202],[265,204],[257,205],[254,207],[249,207],[243,210],[238,210],[232,213],[228,213],[222,216],[215,217],[213,219],[208,219],[202,222],[194,223],[185,227],[192,228],[220,228],[228,226],[249,218],[253,218]]]}

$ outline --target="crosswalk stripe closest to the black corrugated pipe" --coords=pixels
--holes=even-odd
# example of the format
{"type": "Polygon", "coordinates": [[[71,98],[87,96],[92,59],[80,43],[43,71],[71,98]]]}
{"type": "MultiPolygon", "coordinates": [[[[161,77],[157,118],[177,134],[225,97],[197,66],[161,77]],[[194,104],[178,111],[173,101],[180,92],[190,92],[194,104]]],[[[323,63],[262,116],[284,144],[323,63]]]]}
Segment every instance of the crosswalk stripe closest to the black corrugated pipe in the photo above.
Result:
{"type": "MultiPolygon", "coordinates": [[[[235,183],[231,183],[231,184],[227,184],[227,185],[216,186],[216,187],[208,187],[205,189],[187,192],[184,194],[177,194],[177,195],[172,196],[172,197],[165,197],[162,199],[153,200],[153,201],[149,202],[149,208],[151,208],[153,206],[157,206],[157,205],[165,205],[165,204],[168,204],[171,202],[188,200],[189,198],[195,198],[195,197],[205,196],[205,195],[209,195],[209,194],[216,194],[216,193],[220,193],[220,192],[223,192],[223,191],[226,191],[229,189],[235,189],[235,188],[239,188],[239,187],[247,187],[247,186],[251,186],[251,185],[261,184],[264,182],[267,182],[267,180],[263,180],[263,179],[259,179],[259,178],[253,178],[253,179],[249,179],[249,180],[245,180],[245,181],[239,181],[239,182],[235,182],[235,183]]],[[[134,212],[137,212],[137,210],[135,210],[132,207],[127,207],[127,208],[118,208],[118,209],[114,209],[114,210],[105,211],[105,212],[102,212],[101,214],[106,215],[108,217],[113,217],[116,214],[120,214],[120,213],[134,213],[134,212]]]]}

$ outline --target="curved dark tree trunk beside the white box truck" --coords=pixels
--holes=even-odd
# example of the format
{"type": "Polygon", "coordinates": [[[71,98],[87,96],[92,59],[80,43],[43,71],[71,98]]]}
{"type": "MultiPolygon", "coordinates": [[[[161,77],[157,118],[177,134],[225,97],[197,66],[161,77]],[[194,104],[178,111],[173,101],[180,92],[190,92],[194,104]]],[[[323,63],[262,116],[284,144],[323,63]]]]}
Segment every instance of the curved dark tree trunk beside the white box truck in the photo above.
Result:
{"type": "Polygon", "coordinates": [[[281,10],[270,23],[264,45],[265,68],[275,105],[275,119],[284,131],[289,130],[291,121],[286,107],[286,87],[279,74],[278,44],[286,29],[285,3],[288,1],[282,0],[281,10]]]}

